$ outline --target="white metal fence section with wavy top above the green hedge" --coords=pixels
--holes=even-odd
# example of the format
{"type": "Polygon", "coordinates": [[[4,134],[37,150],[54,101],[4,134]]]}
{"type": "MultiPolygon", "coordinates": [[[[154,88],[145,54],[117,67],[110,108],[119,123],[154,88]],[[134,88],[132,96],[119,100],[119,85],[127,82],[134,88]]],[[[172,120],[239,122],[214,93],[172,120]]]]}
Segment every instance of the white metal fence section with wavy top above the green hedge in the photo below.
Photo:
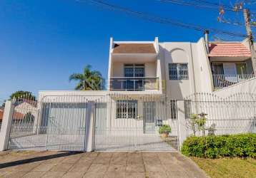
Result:
{"type": "Polygon", "coordinates": [[[251,93],[220,98],[196,93],[184,100],[187,136],[256,133],[256,100],[251,93]],[[201,127],[193,125],[193,116],[205,119],[201,127]],[[196,133],[195,133],[196,132],[196,133]]]}

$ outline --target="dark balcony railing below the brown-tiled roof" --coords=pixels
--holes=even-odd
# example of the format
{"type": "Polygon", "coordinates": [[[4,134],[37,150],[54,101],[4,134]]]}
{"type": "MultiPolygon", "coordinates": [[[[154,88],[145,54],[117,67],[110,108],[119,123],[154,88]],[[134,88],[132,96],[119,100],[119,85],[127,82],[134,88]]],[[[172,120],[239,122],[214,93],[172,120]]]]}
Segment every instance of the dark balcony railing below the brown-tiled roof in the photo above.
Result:
{"type": "Polygon", "coordinates": [[[110,78],[110,90],[159,90],[158,78],[110,78]]]}

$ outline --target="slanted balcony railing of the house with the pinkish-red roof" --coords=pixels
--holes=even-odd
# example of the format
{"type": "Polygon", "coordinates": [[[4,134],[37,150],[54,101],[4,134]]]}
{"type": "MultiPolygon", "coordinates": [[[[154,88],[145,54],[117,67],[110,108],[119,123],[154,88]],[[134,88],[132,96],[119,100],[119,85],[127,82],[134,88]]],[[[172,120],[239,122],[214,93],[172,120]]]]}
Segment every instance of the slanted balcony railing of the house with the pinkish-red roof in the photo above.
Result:
{"type": "Polygon", "coordinates": [[[215,88],[225,88],[236,83],[240,83],[250,78],[254,78],[254,74],[241,74],[241,75],[219,75],[213,74],[213,83],[215,88]]]}

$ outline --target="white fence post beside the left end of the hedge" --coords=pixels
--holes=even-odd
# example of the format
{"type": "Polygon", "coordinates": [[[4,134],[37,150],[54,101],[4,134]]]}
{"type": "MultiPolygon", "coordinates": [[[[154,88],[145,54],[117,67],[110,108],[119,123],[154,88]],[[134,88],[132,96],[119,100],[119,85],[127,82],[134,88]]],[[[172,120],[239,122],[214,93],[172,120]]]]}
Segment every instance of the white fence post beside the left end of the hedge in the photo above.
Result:
{"type": "Polygon", "coordinates": [[[182,147],[182,143],[187,138],[184,100],[177,100],[177,116],[178,116],[178,126],[179,126],[179,150],[180,150],[182,147]]]}

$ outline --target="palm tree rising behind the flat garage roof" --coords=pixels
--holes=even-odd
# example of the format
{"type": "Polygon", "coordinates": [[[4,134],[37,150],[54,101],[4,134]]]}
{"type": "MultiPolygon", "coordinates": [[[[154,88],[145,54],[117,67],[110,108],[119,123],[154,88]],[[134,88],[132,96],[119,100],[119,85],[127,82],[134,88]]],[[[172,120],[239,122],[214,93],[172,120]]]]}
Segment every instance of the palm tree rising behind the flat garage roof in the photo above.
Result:
{"type": "Polygon", "coordinates": [[[104,88],[104,78],[97,70],[91,70],[92,66],[87,65],[84,73],[73,73],[69,76],[69,81],[79,81],[75,90],[102,90],[104,88]]]}

